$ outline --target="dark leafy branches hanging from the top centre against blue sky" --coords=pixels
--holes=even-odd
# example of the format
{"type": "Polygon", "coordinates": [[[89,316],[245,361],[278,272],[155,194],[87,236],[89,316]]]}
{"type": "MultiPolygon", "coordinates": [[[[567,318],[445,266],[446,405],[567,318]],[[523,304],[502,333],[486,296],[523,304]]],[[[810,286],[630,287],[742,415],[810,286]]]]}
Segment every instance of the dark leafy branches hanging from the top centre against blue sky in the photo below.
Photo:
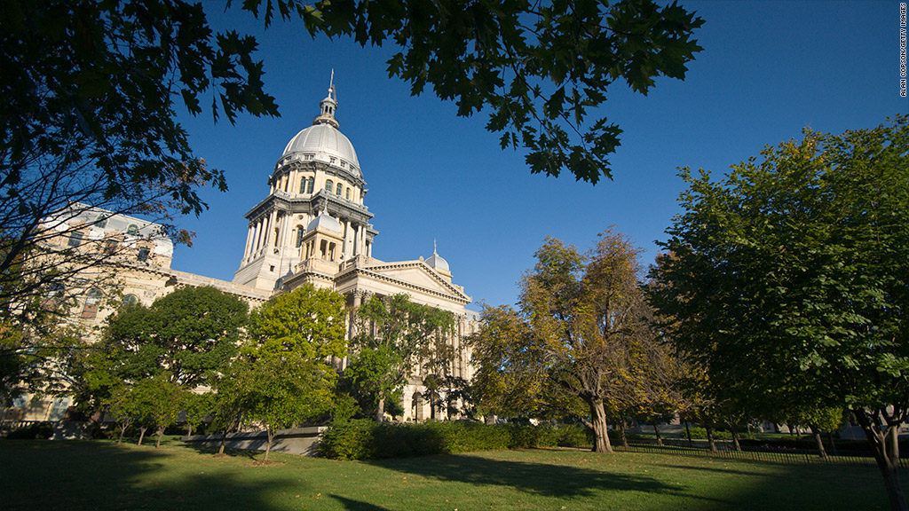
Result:
{"type": "Polygon", "coordinates": [[[622,130],[602,114],[606,89],[624,80],[646,95],[657,76],[684,79],[701,50],[704,21],[653,0],[244,0],[263,15],[298,16],[311,35],[392,44],[388,75],[432,87],[457,115],[489,111],[486,129],[501,145],[523,147],[531,172],[596,183],[611,177],[608,155],[622,130]],[[594,113],[595,120],[588,121],[594,113]]]}

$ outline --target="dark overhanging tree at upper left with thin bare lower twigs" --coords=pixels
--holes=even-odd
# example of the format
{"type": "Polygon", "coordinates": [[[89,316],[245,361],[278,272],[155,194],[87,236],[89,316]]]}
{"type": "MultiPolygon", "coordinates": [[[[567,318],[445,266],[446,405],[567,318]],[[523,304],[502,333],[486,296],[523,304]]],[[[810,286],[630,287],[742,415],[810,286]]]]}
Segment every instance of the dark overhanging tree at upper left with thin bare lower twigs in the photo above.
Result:
{"type": "MultiPolygon", "coordinates": [[[[211,97],[215,118],[277,115],[263,91],[255,39],[214,34],[201,5],[153,2],[5,1],[0,26],[0,311],[25,324],[35,296],[85,288],[104,250],[64,245],[111,214],[198,215],[202,185],[224,175],[195,155],[176,122],[211,97]],[[177,99],[179,97],[179,99],[177,99]],[[59,264],[64,261],[65,264],[59,264]]],[[[167,227],[177,242],[191,234],[167,227]]],[[[89,244],[91,245],[91,244],[89,244]]]]}

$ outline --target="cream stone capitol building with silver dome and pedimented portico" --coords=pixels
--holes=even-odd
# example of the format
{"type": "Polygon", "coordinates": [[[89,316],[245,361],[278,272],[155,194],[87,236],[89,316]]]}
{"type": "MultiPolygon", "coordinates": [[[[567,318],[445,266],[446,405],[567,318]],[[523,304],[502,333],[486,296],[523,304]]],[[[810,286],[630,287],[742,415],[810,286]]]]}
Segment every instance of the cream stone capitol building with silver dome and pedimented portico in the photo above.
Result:
{"type": "MultiPolygon", "coordinates": [[[[364,169],[354,145],[340,130],[335,118],[337,107],[331,86],[312,125],[285,145],[268,177],[267,190],[263,189],[265,197],[245,213],[245,250],[238,255],[239,268],[232,281],[171,268],[174,245],[160,226],[127,215],[110,215],[91,206],[79,205],[71,215],[64,215],[61,222],[65,228],[60,230],[67,235],[59,236],[55,243],[73,246],[72,233],[76,232],[80,239],[99,244],[117,240],[128,247],[115,260],[117,291],[125,302],[146,306],[179,286],[214,286],[255,308],[271,296],[310,283],[345,296],[350,335],[355,310],[365,299],[403,293],[416,304],[454,314],[456,332],[448,342],[456,355],[450,371],[452,376],[469,381],[473,368],[462,341],[479,325],[478,315],[464,308],[471,298],[463,286],[454,284],[448,262],[435,247],[425,258],[375,258],[379,232],[370,223],[373,213],[365,203],[364,169]]],[[[88,329],[103,326],[105,317],[114,312],[114,308],[100,305],[103,293],[89,290],[74,320],[88,329]]],[[[345,360],[337,362],[343,369],[345,360]]],[[[418,374],[411,377],[401,403],[405,420],[430,416],[424,392],[422,378],[418,374]]],[[[56,420],[71,405],[68,397],[32,402],[24,399],[14,406],[24,409],[25,420],[56,420]]]]}

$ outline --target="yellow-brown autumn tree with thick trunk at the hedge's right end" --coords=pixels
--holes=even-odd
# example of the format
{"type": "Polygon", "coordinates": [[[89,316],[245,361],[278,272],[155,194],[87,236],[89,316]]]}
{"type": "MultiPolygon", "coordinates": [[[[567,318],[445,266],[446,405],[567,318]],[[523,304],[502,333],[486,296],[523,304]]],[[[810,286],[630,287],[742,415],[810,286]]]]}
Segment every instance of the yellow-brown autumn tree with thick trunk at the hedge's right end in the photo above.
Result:
{"type": "Polygon", "coordinates": [[[521,310],[487,307],[472,341],[481,404],[574,413],[594,431],[594,452],[612,452],[605,405],[628,410],[644,402],[664,374],[637,251],[606,231],[586,255],[547,238],[535,256],[521,283],[521,310]]]}

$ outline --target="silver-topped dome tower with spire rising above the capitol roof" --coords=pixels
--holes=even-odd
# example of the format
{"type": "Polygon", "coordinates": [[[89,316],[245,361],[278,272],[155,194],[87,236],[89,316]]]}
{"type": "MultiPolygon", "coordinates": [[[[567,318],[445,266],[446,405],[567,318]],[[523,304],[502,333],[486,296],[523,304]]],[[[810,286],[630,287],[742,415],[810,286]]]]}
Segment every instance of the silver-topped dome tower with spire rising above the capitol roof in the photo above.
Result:
{"type": "Polygon", "coordinates": [[[337,105],[332,83],[313,125],[290,140],[275,164],[269,195],[246,213],[249,230],[235,284],[273,290],[306,259],[330,262],[335,271],[326,273],[335,273],[344,261],[372,254],[378,231],[369,224],[373,214],[364,205],[366,183],[354,145],[338,129],[337,105]]]}

